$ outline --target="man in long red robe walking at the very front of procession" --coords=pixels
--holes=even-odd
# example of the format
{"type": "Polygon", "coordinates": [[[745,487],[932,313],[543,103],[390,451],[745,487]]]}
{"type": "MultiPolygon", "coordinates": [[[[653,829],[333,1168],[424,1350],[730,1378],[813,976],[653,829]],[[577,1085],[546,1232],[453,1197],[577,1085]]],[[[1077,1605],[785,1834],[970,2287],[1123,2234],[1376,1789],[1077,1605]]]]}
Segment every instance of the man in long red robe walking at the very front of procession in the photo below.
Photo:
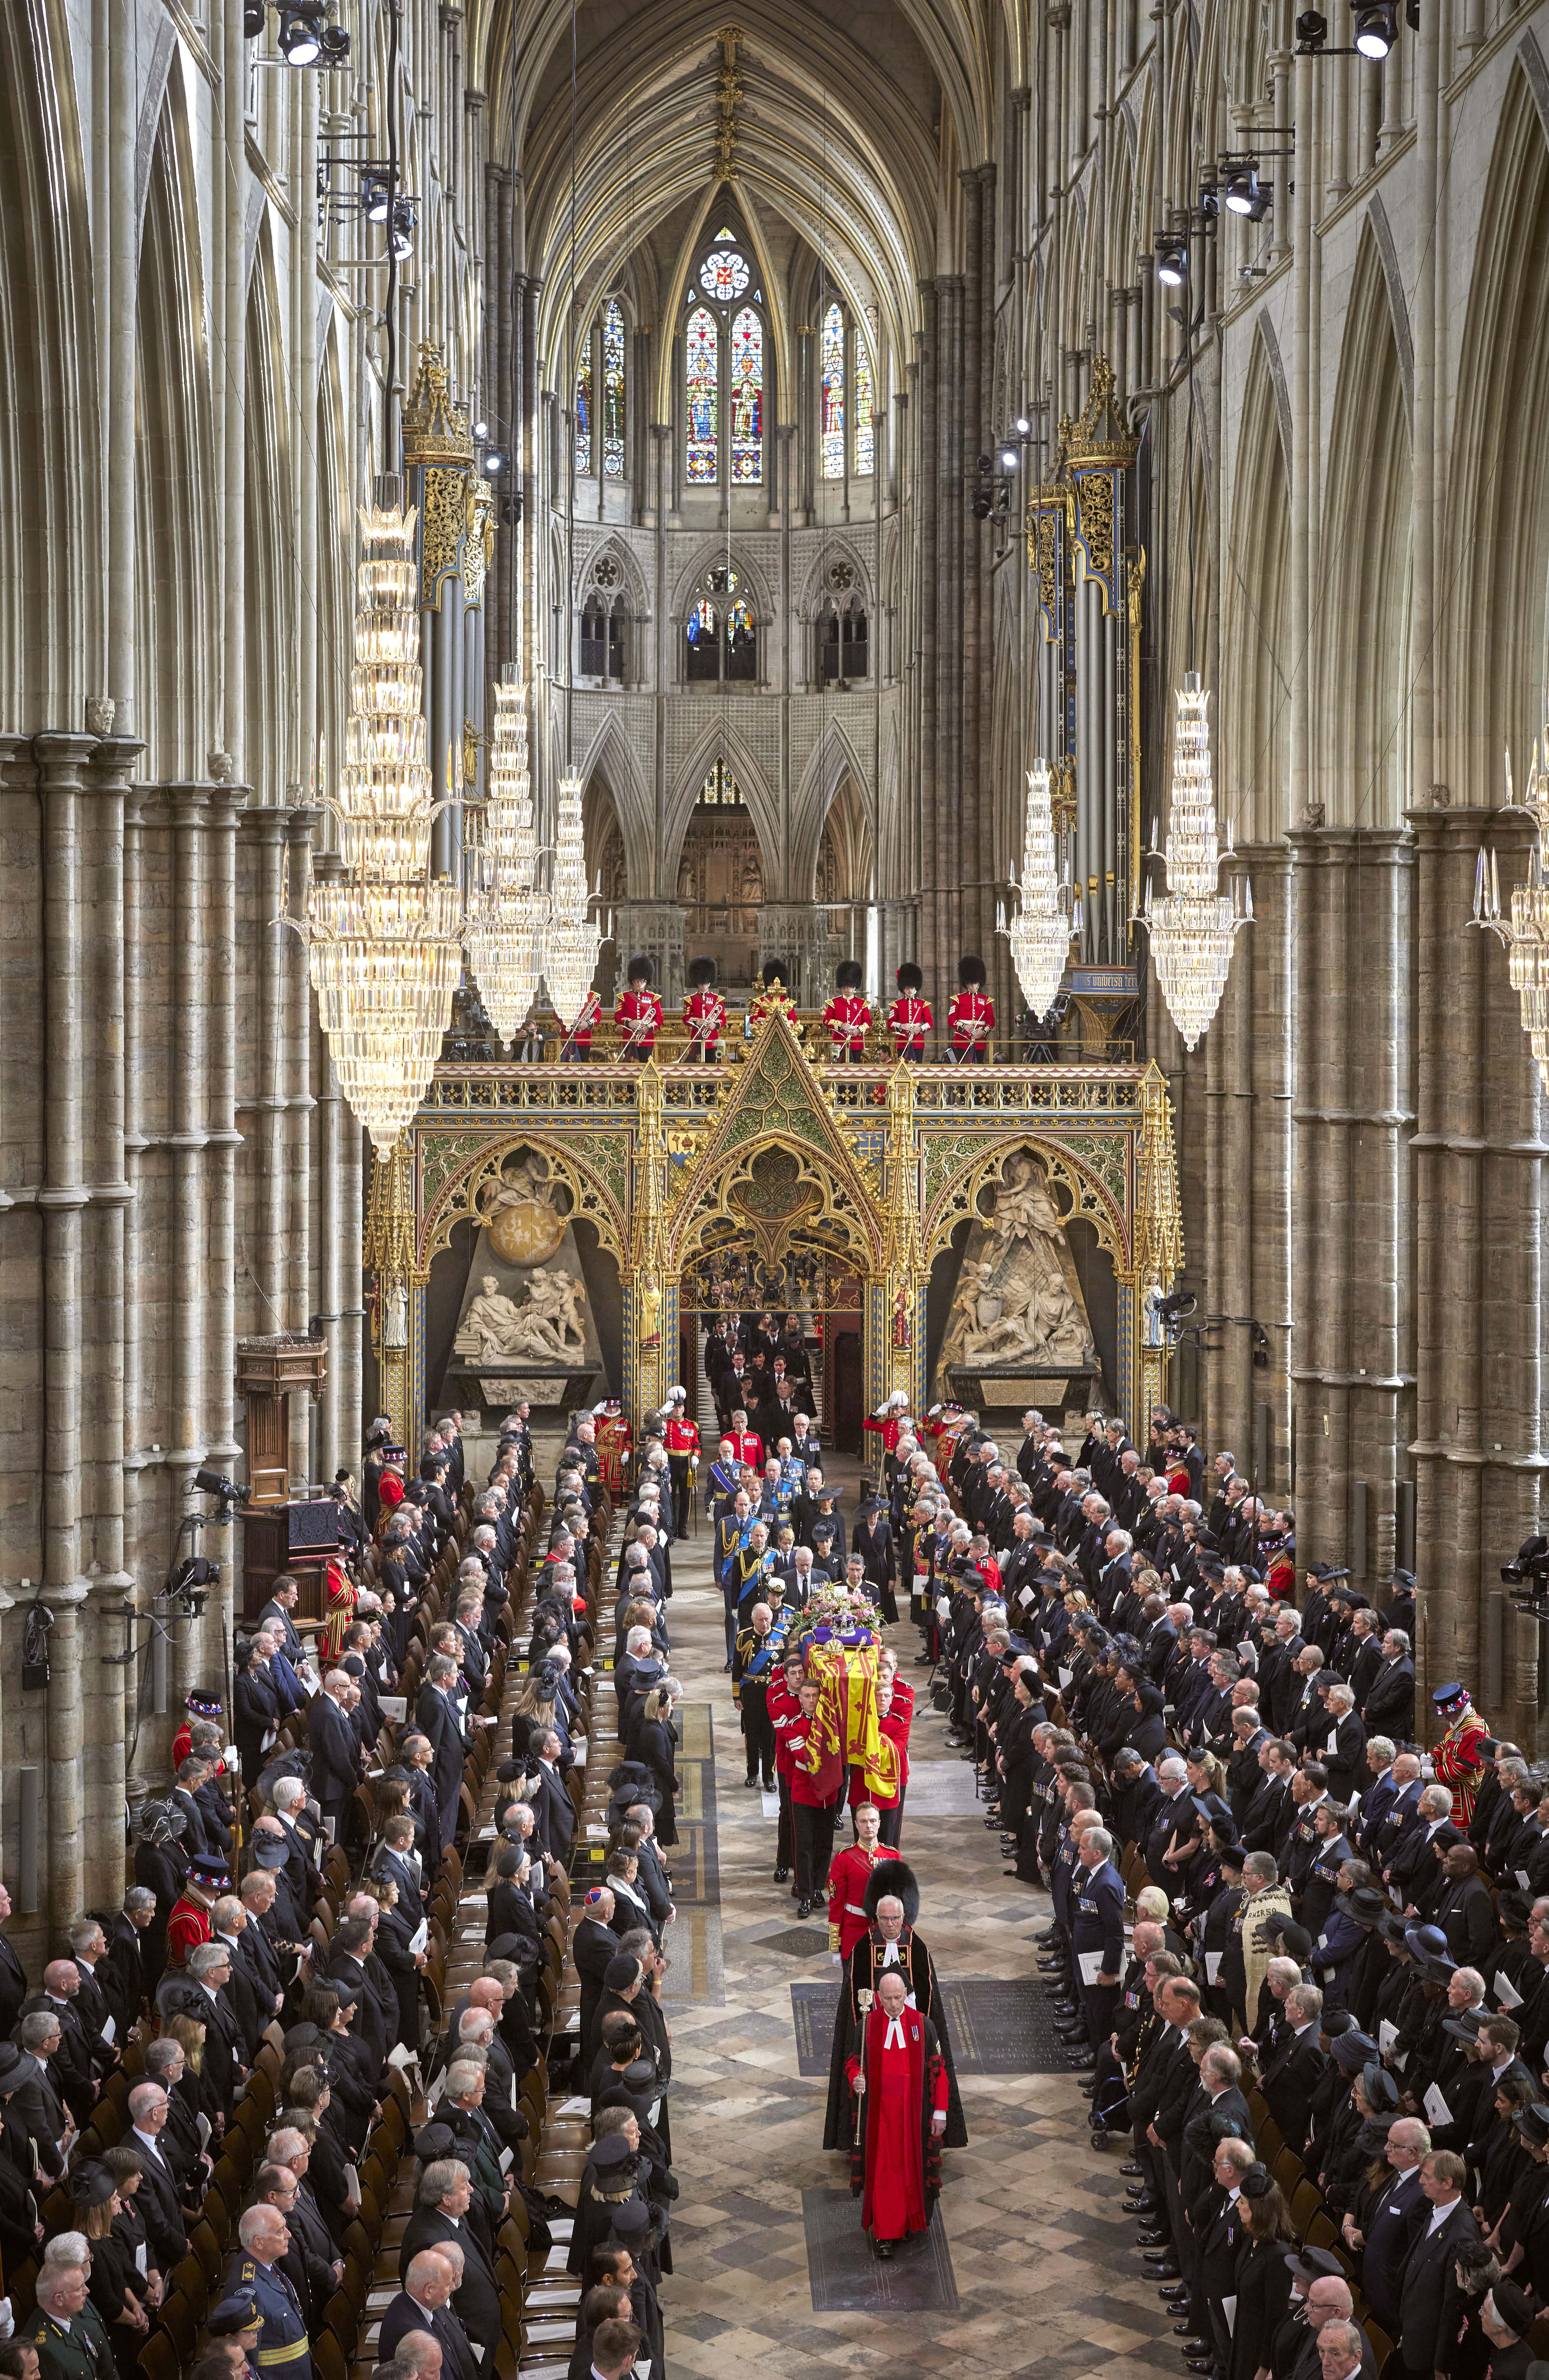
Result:
{"type": "Polygon", "coordinates": [[[909,2006],[897,1968],[878,1983],[847,2073],[859,2099],[849,2190],[861,2202],[871,2247],[892,2256],[895,2240],[930,2228],[947,2130],[947,2066],[935,2025],[909,2006]]]}

